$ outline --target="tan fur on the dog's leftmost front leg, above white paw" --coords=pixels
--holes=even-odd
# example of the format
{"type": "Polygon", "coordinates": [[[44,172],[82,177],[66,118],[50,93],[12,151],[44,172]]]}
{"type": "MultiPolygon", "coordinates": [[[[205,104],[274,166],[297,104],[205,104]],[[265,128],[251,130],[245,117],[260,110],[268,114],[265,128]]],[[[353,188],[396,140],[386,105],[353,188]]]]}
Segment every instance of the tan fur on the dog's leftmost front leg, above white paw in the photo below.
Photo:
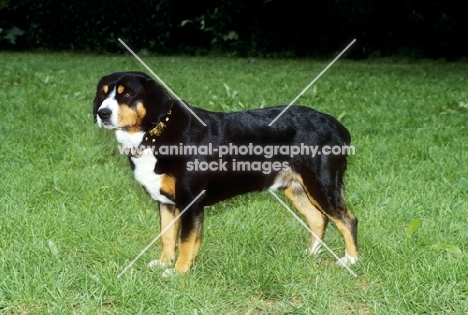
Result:
{"type": "Polygon", "coordinates": [[[173,221],[179,212],[179,209],[175,208],[174,205],[159,204],[161,231],[172,224],[166,230],[166,232],[161,235],[162,251],[159,261],[164,265],[171,264],[175,261],[175,251],[180,220],[177,220],[174,223],[173,221]]]}

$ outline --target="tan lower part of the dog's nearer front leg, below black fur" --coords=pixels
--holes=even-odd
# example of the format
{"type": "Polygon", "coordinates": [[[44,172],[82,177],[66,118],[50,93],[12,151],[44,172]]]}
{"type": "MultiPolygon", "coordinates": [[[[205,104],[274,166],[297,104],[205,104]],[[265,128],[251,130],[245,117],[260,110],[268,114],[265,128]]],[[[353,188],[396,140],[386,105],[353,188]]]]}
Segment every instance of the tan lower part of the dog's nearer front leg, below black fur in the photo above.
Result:
{"type": "Polygon", "coordinates": [[[186,273],[192,268],[195,258],[200,250],[201,232],[203,223],[197,224],[188,238],[179,243],[179,258],[174,266],[174,270],[178,273],[186,273]]]}

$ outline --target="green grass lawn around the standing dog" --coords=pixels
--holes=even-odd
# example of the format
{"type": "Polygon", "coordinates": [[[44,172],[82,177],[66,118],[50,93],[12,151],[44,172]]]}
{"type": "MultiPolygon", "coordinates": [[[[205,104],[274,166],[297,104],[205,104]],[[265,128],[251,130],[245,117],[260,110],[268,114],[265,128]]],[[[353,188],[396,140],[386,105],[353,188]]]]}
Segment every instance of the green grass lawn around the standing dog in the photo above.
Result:
{"type": "MultiPolygon", "coordinates": [[[[353,278],[268,193],[207,209],[184,277],[146,264],[156,204],[111,132],[93,125],[100,77],[131,56],[0,57],[0,314],[465,314],[468,64],[339,60],[298,101],[353,135],[353,278]],[[229,231],[229,232],[226,232],[229,231]]],[[[328,60],[145,58],[183,99],[216,110],[287,104],[328,60]]],[[[281,194],[280,194],[281,196],[281,194]]],[[[325,242],[339,255],[332,225],[325,242]]]]}

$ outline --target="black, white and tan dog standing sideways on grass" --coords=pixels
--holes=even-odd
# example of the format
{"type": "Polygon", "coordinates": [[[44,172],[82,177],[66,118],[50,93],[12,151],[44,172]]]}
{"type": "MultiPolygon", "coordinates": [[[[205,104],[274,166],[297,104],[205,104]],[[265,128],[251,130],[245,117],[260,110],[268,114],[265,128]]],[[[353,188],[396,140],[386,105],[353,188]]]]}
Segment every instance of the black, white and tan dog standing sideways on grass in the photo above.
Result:
{"type": "MultiPolygon", "coordinates": [[[[207,111],[173,99],[141,72],[116,72],[99,81],[95,122],[115,130],[120,146],[131,148],[135,179],[159,203],[161,231],[167,228],[162,254],[152,265],[175,263],[176,272],[189,271],[200,248],[205,206],[265,189],[283,190],[320,238],[332,220],[345,241],[338,262],[357,261],[357,219],[343,196],[347,154],[330,150],[349,146],[350,134],[332,116],[303,106],[291,106],[269,126],[284,109],[207,111]],[[307,147],[318,148],[317,154],[291,154],[292,148],[307,147]]],[[[312,237],[309,253],[319,247],[312,237]]]]}

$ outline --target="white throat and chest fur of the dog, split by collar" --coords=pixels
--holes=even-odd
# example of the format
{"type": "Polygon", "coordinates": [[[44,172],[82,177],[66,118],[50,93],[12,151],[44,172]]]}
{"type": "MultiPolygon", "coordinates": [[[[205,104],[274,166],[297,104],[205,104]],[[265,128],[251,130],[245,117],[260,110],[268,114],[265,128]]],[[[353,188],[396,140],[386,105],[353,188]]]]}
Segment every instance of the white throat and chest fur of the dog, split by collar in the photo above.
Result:
{"type": "MultiPolygon", "coordinates": [[[[143,139],[144,132],[140,133],[128,133],[125,131],[117,130],[116,132],[117,141],[124,146],[140,145],[143,139]]],[[[161,195],[161,177],[162,174],[156,174],[154,169],[156,167],[157,159],[153,154],[143,154],[141,157],[132,157],[132,162],[135,165],[133,174],[135,179],[145,187],[146,191],[150,194],[151,198],[162,203],[174,204],[172,200],[164,195],[161,195]]]]}

